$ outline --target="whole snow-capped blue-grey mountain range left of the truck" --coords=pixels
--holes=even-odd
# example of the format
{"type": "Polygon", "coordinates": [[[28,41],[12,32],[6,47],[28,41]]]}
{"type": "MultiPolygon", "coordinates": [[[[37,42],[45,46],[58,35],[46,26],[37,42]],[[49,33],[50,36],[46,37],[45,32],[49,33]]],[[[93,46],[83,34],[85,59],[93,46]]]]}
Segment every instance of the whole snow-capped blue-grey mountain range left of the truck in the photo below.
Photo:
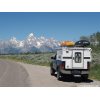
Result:
{"type": "Polygon", "coordinates": [[[36,37],[30,33],[25,40],[17,40],[12,37],[10,40],[0,40],[0,54],[53,52],[59,47],[60,42],[53,38],[43,36],[36,37]]]}

